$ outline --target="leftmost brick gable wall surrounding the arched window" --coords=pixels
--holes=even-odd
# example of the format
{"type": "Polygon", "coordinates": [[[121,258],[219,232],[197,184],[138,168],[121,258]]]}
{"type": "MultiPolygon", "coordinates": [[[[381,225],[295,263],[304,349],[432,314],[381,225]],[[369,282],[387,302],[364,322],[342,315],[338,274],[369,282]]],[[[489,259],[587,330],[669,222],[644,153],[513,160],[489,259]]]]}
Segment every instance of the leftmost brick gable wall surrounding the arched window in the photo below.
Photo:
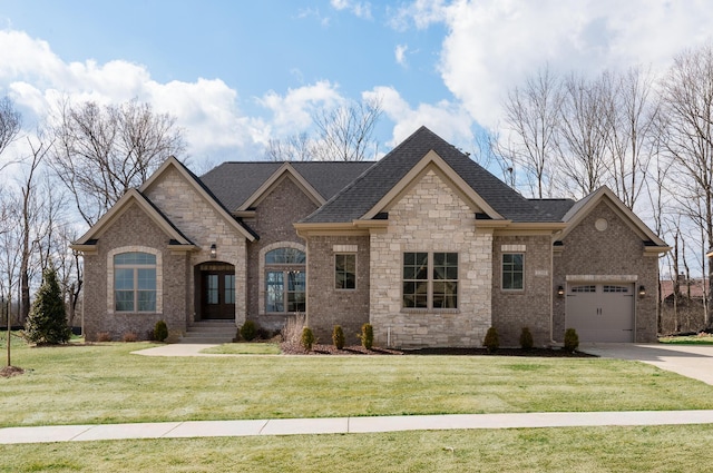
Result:
{"type": "MultiPolygon", "coordinates": [[[[184,331],[188,299],[187,257],[168,250],[168,237],[137,205],[131,204],[98,239],[97,254],[85,255],[84,319],[87,341],[100,333],[113,339],[131,332],[140,339],[150,339],[154,325],[163,319],[170,331],[184,331]],[[156,313],[114,312],[111,288],[111,255],[144,250],[157,254],[157,273],[163,276],[162,294],[156,313]]],[[[111,273],[113,275],[113,273],[111,273]]]]}

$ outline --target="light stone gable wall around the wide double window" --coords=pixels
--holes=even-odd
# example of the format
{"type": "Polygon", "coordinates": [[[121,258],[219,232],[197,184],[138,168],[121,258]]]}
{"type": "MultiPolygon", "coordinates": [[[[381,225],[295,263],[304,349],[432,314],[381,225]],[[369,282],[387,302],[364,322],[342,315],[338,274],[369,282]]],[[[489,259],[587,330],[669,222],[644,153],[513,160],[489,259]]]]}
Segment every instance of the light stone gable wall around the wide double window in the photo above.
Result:
{"type": "Polygon", "coordinates": [[[480,346],[491,323],[492,233],[476,231],[475,211],[433,170],[389,209],[371,235],[371,312],[377,345],[480,346]],[[458,309],[403,309],[404,252],[457,252],[458,309]]]}

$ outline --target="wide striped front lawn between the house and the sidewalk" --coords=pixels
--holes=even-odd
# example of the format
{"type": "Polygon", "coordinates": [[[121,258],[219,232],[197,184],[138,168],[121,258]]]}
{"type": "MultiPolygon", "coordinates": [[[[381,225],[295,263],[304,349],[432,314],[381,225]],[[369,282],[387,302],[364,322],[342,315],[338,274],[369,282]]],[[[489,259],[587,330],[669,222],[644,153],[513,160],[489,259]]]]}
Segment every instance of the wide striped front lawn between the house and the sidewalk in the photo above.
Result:
{"type": "Polygon", "coordinates": [[[0,426],[713,408],[713,386],[617,359],[130,354],[150,346],[14,343],[0,426]]]}

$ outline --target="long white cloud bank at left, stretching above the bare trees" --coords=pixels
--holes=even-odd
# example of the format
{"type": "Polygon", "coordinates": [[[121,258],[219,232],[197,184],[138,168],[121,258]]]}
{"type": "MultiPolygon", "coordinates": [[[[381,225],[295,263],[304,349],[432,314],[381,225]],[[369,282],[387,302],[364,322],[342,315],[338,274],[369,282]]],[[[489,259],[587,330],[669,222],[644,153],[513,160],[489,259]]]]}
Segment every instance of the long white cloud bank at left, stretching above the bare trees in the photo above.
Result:
{"type": "Polygon", "coordinates": [[[59,98],[119,104],[138,98],[169,112],[186,130],[194,159],[253,156],[267,141],[262,120],[242,116],[237,93],[219,79],[159,83],[145,67],[126,61],[65,62],[46,41],[0,30],[0,96],[8,93],[31,130],[59,98]]]}

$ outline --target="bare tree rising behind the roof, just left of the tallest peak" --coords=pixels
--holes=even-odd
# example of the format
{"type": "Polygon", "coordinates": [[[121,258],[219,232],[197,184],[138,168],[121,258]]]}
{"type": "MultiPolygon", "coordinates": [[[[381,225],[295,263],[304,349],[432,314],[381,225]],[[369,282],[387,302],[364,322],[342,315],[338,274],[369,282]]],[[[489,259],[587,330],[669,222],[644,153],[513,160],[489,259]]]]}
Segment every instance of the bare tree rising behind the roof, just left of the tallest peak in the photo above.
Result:
{"type": "Polygon", "coordinates": [[[315,112],[312,120],[319,137],[313,142],[313,159],[363,161],[375,157],[378,148],[372,135],[381,114],[380,98],[315,112]]]}

